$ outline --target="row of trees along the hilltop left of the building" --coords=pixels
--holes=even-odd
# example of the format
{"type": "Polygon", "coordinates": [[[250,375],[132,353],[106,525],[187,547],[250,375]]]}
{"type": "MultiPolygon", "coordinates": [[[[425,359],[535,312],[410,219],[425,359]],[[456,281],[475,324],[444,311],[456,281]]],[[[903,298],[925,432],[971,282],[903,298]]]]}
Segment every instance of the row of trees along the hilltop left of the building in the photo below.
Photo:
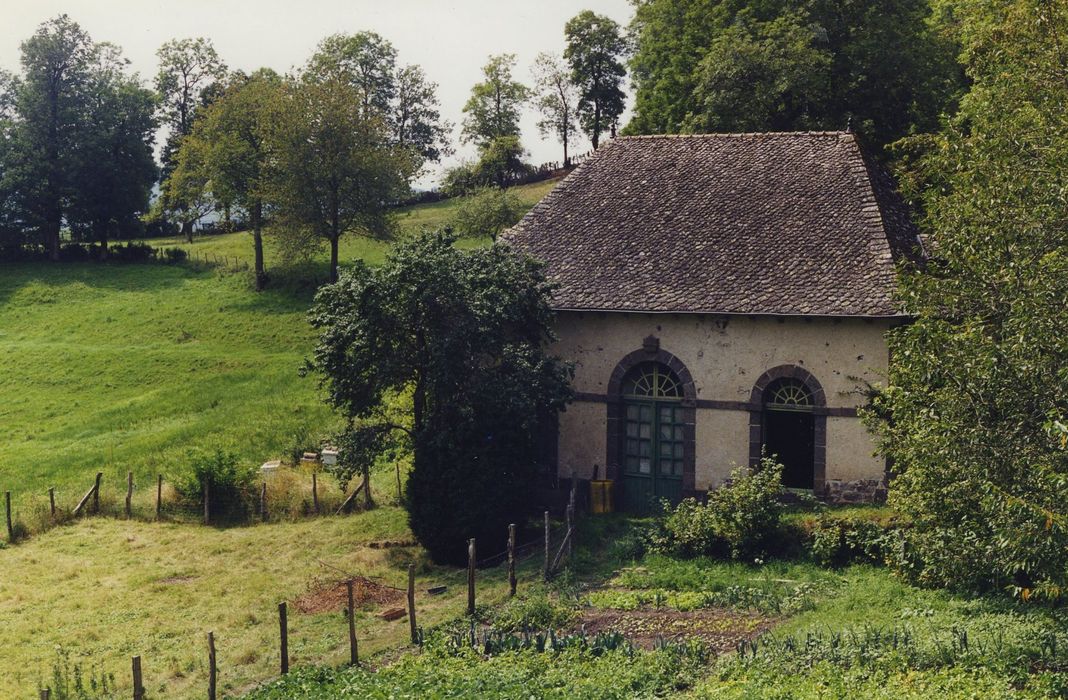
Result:
{"type": "MultiPolygon", "coordinates": [[[[531,100],[565,162],[580,124],[595,144],[615,131],[621,28],[584,12],[565,36],[563,57],[538,57],[533,89],[513,78],[514,56],[490,58],[464,108],[461,138],[480,159],[458,169],[469,176],[453,178],[457,191],[504,187],[528,168],[519,116],[531,100]]],[[[215,213],[252,232],[257,286],[267,220],[286,255],[328,245],[335,279],[340,237],[386,235],[389,205],[452,152],[437,84],[375,32],[326,37],[290,75],[231,69],[206,38],[168,42],[157,57],[150,87],[66,15],[23,42],[21,72],[0,73],[0,249],[59,260],[69,237],[104,259],[114,238],[191,240],[215,213]]]]}

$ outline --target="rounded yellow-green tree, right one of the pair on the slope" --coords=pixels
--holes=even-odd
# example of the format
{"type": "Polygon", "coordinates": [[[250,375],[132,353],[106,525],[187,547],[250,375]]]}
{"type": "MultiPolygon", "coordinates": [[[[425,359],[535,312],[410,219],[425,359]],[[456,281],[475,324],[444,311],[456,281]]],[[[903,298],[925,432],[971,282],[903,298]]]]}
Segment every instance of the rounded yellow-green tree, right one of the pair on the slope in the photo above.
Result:
{"type": "Polygon", "coordinates": [[[387,207],[407,192],[411,153],[392,142],[383,116],[364,111],[362,93],[344,76],[283,85],[269,135],[269,197],[282,244],[301,251],[326,239],[334,281],[344,233],[389,232],[387,207]]]}

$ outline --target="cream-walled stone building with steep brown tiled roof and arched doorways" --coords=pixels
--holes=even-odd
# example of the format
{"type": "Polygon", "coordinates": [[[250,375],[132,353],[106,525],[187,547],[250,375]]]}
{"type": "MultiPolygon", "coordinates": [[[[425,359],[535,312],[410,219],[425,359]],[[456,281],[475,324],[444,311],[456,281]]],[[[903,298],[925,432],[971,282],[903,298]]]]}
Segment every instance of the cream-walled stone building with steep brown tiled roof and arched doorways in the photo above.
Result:
{"type": "Polygon", "coordinates": [[[617,138],[504,234],[543,260],[576,400],[556,466],[643,512],[761,450],[830,500],[884,493],[857,416],[904,316],[907,208],[851,133],[617,138]]]}

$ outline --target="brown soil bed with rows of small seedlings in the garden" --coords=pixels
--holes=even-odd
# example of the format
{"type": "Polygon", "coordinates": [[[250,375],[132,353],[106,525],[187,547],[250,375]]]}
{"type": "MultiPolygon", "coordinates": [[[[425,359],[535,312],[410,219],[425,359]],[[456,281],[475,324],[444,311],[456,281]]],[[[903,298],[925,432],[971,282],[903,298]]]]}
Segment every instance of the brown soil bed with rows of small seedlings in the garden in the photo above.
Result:
{"type": "Polygon", "coordinates": [[[742,639],[769,629],[776,620],[723,608],[703,610],[602,610],[583,611],[572,632],[618,632],[635,645],[653,649],[658,639],[701,639],[717,652],[732,651],[742,639]]]}

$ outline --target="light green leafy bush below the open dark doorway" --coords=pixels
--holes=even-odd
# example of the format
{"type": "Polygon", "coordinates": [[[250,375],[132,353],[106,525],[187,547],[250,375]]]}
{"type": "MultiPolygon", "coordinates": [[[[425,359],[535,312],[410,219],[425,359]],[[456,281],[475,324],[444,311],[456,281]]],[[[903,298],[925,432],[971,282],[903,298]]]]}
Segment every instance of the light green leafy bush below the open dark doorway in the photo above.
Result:
{"type": "Polygon", "coordinates": [[[755,470],[735,469],[728,482],[708,494],[708,503],[685,499],[666,517],[651,546],[680,557],[752,559],[778,540],[782,514],[782,465],[764,457],[755,470]]]}

